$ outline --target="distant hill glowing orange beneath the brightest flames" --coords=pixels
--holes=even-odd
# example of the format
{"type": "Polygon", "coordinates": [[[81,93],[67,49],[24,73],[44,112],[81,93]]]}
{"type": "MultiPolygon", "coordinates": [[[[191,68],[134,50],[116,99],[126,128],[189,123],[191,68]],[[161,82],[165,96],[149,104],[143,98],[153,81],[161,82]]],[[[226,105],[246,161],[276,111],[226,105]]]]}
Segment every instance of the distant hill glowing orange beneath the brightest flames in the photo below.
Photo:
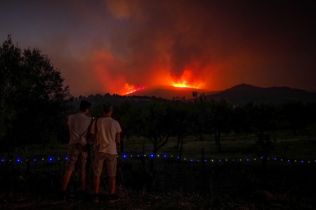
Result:
{"type": "Polygon", "coordinates": [[[155,96],[171,100],[176,96],[185,96],[186,99],[192,98],[192,92],[197,91],[198,94],[204,93],[205,95],[211,95],[218,93],[219,91],[210,91],[197,88],[188,87],[174,87],[171,85],[160,85],[143,90],[135,91],[133,93],[126,94],[126,96],[155,96]]]}

